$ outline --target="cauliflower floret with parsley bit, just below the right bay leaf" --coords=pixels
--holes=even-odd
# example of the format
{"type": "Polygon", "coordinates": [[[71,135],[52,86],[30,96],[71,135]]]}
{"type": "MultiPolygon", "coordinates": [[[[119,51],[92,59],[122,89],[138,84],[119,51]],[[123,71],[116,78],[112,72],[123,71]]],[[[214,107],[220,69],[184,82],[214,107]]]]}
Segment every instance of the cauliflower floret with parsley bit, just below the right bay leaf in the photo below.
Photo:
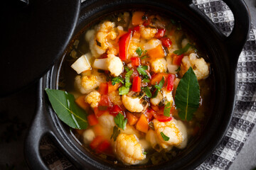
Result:
{"type": "Polygon", "coordinates": [[[178,130],[176,120],[171,120],[169,122],[159,122],[159,120],[154,119],[153,123],[156,137],[161,147],[164,149],[171,149],[172,146],[178,147],[181,145],[181,142],[183,142],[183,135],[180,130],[178,130]],[[165,141],[163,137],[161,137],[161,132],[169,137],[168,141],[165,141]]]}

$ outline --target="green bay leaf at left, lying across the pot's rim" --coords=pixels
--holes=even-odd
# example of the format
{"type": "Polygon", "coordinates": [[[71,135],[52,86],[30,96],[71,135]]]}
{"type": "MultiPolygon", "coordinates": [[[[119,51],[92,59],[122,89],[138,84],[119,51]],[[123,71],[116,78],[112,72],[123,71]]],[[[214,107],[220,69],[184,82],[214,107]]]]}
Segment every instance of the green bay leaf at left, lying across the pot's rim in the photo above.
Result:
{"type": "Polygon", "coordinates": [[[45,89],[53,110],[58,118],[71,128],[86,129],[87,113],[82,110],[76,103],[73,94],[66,91],[45,89]]]}

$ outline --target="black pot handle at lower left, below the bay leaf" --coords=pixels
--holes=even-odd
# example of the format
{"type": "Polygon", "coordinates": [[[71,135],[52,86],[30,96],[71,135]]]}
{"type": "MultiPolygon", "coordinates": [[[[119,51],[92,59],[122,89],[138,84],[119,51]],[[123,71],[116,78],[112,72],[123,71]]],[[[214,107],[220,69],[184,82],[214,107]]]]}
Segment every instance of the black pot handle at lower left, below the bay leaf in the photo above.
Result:
{"type": "Polygon", "coordinates": [[[36,111],[36,116],[33,119],[30,129],[28,130],[28,135],[25,141],[24,154],[28,166],[31,169],[43,169],[48,170],[48,166],[43,162],[41,154],[39,152],[40,141],[42,137],[51,130],[48,125],[48,117],[44,115],[47,113],[44,107],[43,100],[43,78],[39,81],[38,86],[38,110],[36,111]]]}

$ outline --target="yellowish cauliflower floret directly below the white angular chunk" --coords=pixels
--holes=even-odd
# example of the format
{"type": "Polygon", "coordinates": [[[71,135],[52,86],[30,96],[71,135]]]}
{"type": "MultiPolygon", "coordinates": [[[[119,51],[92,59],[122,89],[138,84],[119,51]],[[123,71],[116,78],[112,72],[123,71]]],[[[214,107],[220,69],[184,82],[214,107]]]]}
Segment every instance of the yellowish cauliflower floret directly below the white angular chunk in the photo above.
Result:
{"type": "Polygon", "coordinates": [[[95,75],[77,76],[75,77],[75,87],[79,89],[81,94],[89,94],[91,91],[100,85],[95,75]]]}

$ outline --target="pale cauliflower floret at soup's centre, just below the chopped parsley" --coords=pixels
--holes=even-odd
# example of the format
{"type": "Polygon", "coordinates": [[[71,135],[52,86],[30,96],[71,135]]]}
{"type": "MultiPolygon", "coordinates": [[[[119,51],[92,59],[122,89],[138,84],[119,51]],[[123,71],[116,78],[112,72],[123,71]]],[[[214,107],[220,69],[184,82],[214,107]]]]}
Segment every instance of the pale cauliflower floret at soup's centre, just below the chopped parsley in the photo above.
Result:
{"type": "Polygon", "coordinates": [[[142,112],[143,106],[140,103],[139,98],[131,98],[127,95],[122,96],[122,103],[124,104],[124,107],[127,108],[130,112],[142,112]]]}

